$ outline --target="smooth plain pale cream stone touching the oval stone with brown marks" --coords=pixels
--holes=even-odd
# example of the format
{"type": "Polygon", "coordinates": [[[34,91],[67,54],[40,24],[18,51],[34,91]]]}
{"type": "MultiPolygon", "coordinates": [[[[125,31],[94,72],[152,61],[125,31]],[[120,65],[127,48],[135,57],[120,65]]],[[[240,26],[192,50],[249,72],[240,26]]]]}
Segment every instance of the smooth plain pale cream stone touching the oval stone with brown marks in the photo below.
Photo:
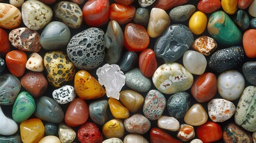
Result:
{"type": "Polygon", "coordinates": [[[183,55],[183,65],[190,73],[201,75],[205,72],[207,61],[200,52],[189,50],[183,55]]]}

